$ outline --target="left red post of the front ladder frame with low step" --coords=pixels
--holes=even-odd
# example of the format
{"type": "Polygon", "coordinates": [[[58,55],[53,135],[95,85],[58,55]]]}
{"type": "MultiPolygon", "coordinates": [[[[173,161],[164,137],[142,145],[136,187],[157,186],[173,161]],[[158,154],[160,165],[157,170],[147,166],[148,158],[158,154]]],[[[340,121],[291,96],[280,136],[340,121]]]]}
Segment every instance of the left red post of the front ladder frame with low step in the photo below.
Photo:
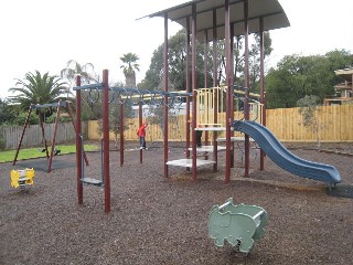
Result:
{"type": "MultiPolygon", "coordinates": [[[[76,76],[76,86],[81,86],[81,75],[76,76]]],[[[78,204],[84,203],[84,188],[82,179],[82,129],[81,129],[81,91],[76,91],[76,165],[77,165],[77,199],[78,204]]]]}

